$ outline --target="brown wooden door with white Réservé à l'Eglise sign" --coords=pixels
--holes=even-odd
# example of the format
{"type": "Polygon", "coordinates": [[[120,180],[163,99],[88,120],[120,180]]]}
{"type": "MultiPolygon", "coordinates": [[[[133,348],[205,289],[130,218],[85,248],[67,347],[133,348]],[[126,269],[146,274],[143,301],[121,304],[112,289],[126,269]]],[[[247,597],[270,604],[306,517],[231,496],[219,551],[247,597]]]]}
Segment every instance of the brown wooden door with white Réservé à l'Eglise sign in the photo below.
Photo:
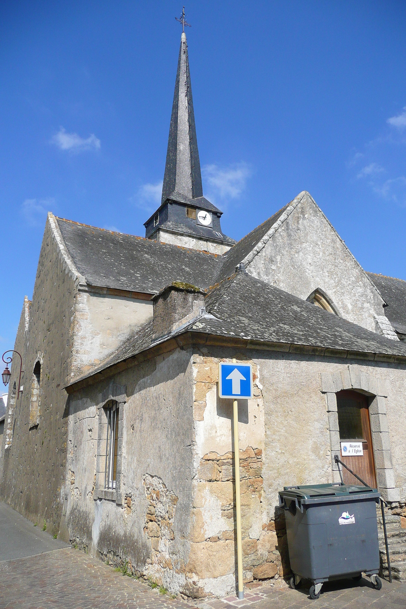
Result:
{"type": "MultiPolygon", "coordinates": [[[[377,488],[371,423],[365,395],[355,391],[337,393],[338,429],[340,442],[362,442],[362,456],[343,456],[341,461],[372,488],[377,488]]],[[[341,468],[344,484],[361,484],[344,467],[341,468]]]]}

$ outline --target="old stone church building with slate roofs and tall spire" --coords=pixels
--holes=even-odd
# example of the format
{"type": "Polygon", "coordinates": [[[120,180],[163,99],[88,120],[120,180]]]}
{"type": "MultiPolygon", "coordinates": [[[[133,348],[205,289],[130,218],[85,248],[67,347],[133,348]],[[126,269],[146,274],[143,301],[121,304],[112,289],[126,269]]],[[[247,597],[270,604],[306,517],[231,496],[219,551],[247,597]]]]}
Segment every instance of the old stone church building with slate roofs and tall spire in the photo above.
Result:
{"type": "MultiPolygon", "coordinates": [[[[289,575],[278,491],[339,482],[335,455],[406,527],[406,282],[363,270],[309,192],[281,205],[238,242],[223,233],[203,196],[183,32],[145,237],[48,214],[15,342],[2,501],[172,593],[234,593],[219,362],[236,359],[254,381],[239,400],[245,582],[289,575]],[[343,457],[346,440],[363,455],[343,457]]],[[[392,569],[406,579],[402,558],[392,569]]]]}

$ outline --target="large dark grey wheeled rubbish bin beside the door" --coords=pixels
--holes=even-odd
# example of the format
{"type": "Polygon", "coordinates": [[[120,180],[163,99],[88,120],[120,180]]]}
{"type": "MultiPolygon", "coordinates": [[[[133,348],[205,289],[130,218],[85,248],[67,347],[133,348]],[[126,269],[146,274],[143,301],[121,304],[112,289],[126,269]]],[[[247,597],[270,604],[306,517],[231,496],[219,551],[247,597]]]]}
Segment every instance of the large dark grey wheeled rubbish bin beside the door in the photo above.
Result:
{"type": "Polygon", "coordinates": [[[323,582],[364,572],[379,590],[379,546],[375,488],[344,484],[284,487],[279,505],[284,507],[290,584],[301,579],[313,583],[309,596],[318,599],[323,582]]]}

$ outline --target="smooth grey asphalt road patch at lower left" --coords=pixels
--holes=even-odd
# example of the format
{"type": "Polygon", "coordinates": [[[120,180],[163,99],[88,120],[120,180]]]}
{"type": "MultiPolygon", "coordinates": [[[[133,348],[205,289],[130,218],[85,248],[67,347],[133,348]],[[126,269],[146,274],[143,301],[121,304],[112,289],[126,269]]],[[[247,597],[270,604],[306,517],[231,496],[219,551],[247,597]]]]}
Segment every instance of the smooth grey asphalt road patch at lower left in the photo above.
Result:
{"type": "MultiPolygon", "coordinates": [[[[12,560],[67,547],[0,502],[0,560],[12,560]]],[[[0,605],[1,607],[1,605],[0,605]]]]}

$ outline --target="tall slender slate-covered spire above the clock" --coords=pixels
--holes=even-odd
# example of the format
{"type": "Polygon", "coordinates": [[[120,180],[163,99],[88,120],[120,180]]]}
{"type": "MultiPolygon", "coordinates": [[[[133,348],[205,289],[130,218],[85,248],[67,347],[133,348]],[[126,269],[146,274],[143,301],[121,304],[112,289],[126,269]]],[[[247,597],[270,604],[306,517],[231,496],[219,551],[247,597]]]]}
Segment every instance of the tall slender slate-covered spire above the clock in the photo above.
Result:
{"type": "Polygon", "coordinates": [[[170,117],[162,203],[203,197],[186,34],[182,32],[170,117]],[[183,195],[179,197],[178,195],[183,195]]]}

